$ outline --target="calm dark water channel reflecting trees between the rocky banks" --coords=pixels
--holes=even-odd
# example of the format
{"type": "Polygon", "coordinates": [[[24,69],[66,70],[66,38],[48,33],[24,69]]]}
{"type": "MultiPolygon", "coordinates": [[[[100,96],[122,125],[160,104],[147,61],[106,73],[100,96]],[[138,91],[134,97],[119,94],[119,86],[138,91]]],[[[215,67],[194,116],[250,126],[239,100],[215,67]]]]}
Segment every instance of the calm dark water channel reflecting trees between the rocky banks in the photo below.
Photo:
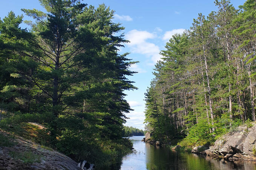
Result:
{"type": "Polygon", "coordinates": [[[210,157],[171,151],[141,142],[144,136],[130,137],[135,153],[126,155],[120,170],[256,170],[256,162],[215,160],[210,157]]]}

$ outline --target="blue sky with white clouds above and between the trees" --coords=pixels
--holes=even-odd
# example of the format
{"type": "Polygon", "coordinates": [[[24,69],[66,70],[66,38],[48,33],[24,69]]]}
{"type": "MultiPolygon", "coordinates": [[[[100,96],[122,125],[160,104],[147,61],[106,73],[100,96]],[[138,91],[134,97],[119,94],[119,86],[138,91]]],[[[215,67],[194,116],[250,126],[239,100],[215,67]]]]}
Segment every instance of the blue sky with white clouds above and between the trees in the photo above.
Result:
{"type": "MultiPolygon", "coordinates": [[[[38,9],[45,12],[38,0],[0,0],[0,18],[13,11],[16,15],[21,15],[20,10],[38,9]]],[[[233,6],[238,9],[245,0],[230,0],[233,6]]],[[[139,61],[130,67],[138,72],[134,76],[129,76],[134,85],[139,88],[134,91],[125,91],[125,99],[134,109],[126,116],[126,126],[133,126],[144,129],[144,111],[146,89],[150,86],[154,65],[160,60],[159,52],[165,49],[166,42],[175,33],[182,33],[189,29],[193,19],[198,17],[198,13],[207,16],[211,11],[217,10],[214,0],[83,0],[82,3],[97,7],[104,3],[115,11],[114,22],[122,23],[125,27],[125,39],[130,43],[121,48],[119,54],[130,52],[128,58],[139,61]]],[[[24,20],[30,20],[24,16],[24,20]]],[[[22,28],[28,27],[21,24],[22,28]]]]}

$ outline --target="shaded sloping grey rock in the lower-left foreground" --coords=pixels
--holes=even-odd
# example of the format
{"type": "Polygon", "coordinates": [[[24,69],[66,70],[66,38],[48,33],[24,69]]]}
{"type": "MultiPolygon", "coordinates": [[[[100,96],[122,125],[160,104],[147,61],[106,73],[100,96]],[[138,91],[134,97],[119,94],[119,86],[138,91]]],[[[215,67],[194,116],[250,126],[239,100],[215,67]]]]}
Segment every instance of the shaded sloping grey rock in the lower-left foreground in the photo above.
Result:
{"type": "MultiPolygon", "coordinates": [[[[0,130],[1,134],[6,134],[0,130]]],[[[15,145],[11,147],[0,147],[0,169],[2,170],[81,170],[74,160],[54,151],[51,148],[44,149],[41,145],[16,136],[15,145]],[[34,163],[25,163],[20,158],[11,155],[34,155],[38,160],[34,163]]]]}

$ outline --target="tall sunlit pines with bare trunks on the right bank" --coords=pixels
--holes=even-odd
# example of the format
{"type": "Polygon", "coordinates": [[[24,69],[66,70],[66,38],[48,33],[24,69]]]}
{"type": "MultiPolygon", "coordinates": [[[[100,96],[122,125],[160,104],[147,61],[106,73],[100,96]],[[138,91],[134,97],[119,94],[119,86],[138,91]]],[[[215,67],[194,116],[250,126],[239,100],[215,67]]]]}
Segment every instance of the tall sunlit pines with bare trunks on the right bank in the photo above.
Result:
{"type": "Polygon", "coordinates": [[[213,142],[243,122],[255,121],[256,1],[239,9],[216,0],[190,30],[161,51],[146,92],[145,123],[153,137],[183,145],[213,142]]]}

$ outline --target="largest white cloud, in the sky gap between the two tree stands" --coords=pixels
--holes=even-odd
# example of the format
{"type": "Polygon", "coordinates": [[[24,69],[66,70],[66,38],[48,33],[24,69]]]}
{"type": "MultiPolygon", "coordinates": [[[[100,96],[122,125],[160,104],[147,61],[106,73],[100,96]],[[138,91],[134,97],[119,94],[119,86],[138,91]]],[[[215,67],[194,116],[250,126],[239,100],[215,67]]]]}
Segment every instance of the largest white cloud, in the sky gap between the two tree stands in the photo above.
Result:
{"type": "Polygon", "coordinates": [[[155,34],[148,31],[131,30],[126,34],[125,38],[130,40],[128,46],[131,52],[144,54],[146,57],[150,57],[154,63],[160,60],[160,48],[147,41],[148,39],[157,38],[155,34]]]}

